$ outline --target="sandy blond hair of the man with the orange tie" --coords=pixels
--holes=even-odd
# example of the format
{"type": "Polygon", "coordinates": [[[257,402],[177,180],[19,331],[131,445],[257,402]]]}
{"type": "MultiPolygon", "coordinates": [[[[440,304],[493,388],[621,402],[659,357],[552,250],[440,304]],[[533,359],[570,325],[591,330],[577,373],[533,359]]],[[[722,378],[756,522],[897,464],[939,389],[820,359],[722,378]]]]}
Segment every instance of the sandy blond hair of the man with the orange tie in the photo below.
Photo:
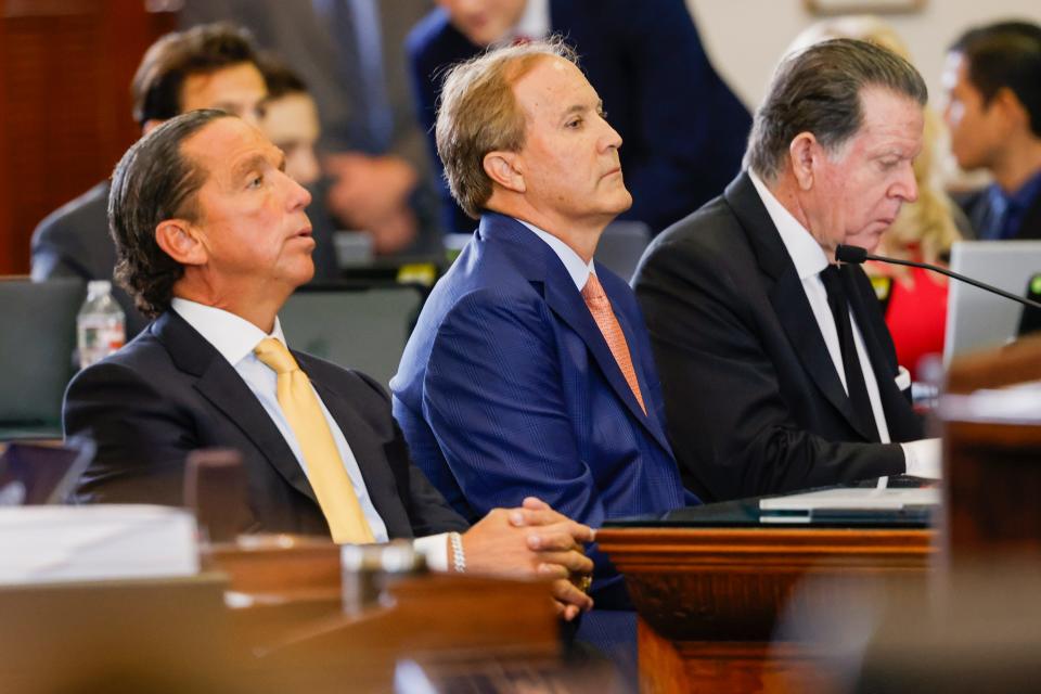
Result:
{"type": "Polygon", "coordinates": [[[435,126],[437,155],[452,197],[474,219],[492,192],[485,155],[524,147],[525,116],[513,86],[547,57],[578,62],[563,39],[552,37],[489,50],[454,65],[445,77],[435,126]]]}

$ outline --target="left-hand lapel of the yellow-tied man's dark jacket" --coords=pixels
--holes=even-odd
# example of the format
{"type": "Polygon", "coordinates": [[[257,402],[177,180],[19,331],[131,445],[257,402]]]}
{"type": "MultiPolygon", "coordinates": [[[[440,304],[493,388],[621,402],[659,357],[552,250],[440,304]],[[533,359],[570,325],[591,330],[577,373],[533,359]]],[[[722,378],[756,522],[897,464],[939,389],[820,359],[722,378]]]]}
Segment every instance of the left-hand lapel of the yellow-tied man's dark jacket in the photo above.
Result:
{"type": "Polygon", "coordinates": [[[231,364],[175,311],[160,316],[153,330],[177,367],[196,377],[195,389],[246,435],[286,483],[318,503],[293,450],[231,364]]]}

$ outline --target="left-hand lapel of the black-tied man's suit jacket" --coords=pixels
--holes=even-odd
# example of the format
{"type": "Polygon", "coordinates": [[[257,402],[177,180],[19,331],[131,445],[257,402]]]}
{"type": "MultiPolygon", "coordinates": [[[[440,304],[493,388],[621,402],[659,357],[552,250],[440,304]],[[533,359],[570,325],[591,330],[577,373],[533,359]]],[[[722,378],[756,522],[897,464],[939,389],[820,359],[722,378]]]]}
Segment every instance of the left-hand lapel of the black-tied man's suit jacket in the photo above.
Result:
{"type": "Polygon", "coordinates": [[[737,177],[724,196],[748,235],[760,269],[773,281],[768,287],[770,304],[802,368],[849,425],[866,440],[873,440],[877,434],[869,436],[853,414],[853,406],[827,351],[802,281],[748,174],[737,177]]]}

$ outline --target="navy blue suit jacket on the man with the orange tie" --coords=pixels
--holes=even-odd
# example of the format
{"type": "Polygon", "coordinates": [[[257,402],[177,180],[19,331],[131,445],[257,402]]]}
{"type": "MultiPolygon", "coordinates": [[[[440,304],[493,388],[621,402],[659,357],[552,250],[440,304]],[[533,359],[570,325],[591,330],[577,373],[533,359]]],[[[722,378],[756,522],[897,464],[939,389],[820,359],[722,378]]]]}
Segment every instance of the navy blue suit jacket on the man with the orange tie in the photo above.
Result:
{"type": "MultiPolygon", "coordinates": [[[[596,275],[647,414],[560,258],[514,219],[485,215],[423,307],[390,383],[394,415],[415,463],[464,517],[529,494],[593,527],[697,503],[666,439],[635,296],[600,265],[596,275]]],[[[592,557],[593,596],[612,606],[603,597],[624,594],[620,577],[595,549],[592,557]]]]}

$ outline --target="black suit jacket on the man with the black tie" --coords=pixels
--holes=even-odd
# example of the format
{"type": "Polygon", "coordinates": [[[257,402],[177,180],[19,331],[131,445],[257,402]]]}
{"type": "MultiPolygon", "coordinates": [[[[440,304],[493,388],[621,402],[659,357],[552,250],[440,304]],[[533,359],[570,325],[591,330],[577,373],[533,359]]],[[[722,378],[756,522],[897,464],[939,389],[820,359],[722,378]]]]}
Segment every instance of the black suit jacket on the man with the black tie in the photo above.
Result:
{"type": "MultiPolygon", "coordinates": [[[[850,306],[894,441],[922,437],[897,389],[892,339],[866,275],[850,306]]],[[[723,500],[904,472],[897,444],[853,424],[809,300],[747,174],[658,236],[634,280],[684,483],[723,500]]]]}

